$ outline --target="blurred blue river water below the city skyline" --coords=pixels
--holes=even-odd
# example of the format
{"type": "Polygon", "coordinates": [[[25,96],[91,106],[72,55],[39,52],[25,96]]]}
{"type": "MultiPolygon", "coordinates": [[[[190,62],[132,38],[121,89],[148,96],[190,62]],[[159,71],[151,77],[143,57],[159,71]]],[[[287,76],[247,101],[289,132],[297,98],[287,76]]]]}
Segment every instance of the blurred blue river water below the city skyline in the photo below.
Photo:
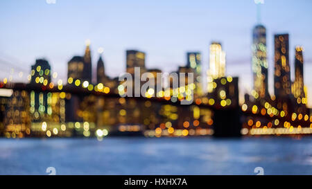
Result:
{"type": "Polygon", "coordinates": [[[312,174],[312,138],[0,138],[0,174],[312,174]]]}

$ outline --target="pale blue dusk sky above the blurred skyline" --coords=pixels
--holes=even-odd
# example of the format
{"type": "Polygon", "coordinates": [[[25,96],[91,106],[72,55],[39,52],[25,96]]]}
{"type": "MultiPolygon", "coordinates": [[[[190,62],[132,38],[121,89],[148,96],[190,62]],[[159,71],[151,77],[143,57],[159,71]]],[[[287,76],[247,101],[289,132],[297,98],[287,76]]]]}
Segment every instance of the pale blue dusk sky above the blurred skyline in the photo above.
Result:
{"type": "MultiPolygon", "coordinates": [[[[49,0],[52,1],[52,0],[49,0]]],[[[270,93],[273,92],[273,35],[289,33],[291,75],[295,46],[304,46],[304,82],[312,107],[312,1],[264,0],[261,24],[267,29],[270,93]]],[[[252,89],[252,28],[257,24],[254,0],[220,1],[0,1],[0,78],[25,81],[37,58],[49,61],[60,79],[67,62],[83,55],[91,40],[93,69],[97,49],[104,48],[107,75],[125,71],[125,50],[146,52],[148,69],[175,71],[186,64],[187,51],[202,53],[209,68],[209,44],[221,42],[227,75],[239,76],[241,95],[252,89]],[[14,68],[14,73],[11,69],[14,68]],[[23,71],[19,78],[16,73],[23,71]]]]}

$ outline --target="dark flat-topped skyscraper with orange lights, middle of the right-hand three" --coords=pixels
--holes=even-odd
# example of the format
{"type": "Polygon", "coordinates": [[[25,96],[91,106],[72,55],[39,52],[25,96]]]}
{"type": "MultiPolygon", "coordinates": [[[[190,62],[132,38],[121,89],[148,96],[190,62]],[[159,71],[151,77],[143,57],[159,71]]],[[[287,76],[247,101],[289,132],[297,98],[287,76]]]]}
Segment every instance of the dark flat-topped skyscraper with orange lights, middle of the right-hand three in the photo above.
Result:
{"type": "Polygon", "coordinates": [[[291,67],[289,66],[288,34],[275,35],[275,96],[288,98],[291,94],[291,67]]]}

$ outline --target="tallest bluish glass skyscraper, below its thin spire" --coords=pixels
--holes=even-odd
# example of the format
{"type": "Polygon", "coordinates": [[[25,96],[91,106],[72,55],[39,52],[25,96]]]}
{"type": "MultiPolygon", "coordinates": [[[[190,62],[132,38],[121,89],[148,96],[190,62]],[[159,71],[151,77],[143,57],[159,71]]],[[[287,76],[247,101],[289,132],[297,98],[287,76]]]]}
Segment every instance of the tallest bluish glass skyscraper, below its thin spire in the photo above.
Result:
{"type": "Polygon", "coordinates": [[[260,98],[268,96],[268,62],[266,60],[266,28],[254,27],[252,35],[252,73],[254,91],[260,98]]]}

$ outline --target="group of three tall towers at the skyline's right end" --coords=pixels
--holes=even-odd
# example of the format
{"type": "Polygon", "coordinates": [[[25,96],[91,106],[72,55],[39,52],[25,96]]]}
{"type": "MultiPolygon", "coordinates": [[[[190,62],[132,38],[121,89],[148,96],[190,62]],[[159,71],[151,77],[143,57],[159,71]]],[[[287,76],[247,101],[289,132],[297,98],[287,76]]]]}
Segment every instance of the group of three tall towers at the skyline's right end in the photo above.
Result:
{"type": "MultiPolygon", "coordinates": [[[[291,65],[289,57],[289,35],[274,36],[274,95],[268,92],[268,60],[266,55],[266,28],[257,25],[253,30],[252,73],[254,78],[254,94],[259,99],[291,100],[292,111],[307,113],[306,88],[304,87],[304,59],[302,46],[295,50],[295,80],[291,81],[291,65]]],[[[289,107],[291,108],[291,107],[289,107]]]]}

